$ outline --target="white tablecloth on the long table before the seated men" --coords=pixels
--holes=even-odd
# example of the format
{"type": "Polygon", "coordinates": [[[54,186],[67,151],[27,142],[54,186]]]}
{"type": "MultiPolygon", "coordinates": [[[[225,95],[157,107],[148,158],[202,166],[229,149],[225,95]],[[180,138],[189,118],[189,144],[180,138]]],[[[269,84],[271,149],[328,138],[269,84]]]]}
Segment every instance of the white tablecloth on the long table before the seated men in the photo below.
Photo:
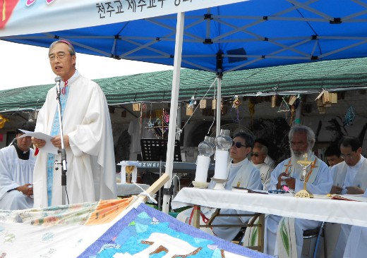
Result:
{"type": "Polygon", "coordinates": [[[367,227],[367,202],[296,198],[291,194],[257,194],[228,190],[182,188],[172,200],[172,209],[200,205],[220,209],[275,214],[300,219],[367,227]]]}

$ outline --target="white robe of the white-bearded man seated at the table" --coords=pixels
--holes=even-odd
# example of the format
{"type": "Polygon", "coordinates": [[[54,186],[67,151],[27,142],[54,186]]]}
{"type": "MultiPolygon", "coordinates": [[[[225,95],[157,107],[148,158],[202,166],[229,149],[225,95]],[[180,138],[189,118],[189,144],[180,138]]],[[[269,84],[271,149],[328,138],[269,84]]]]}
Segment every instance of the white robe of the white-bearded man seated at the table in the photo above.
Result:
{"type": "MultiPolygon", "coordinates": [[[[315,156],[311,156],[310,160],[314,160],[315,156]]],[[[288,164],[289,159],[282,161],[275,169],[272,171],[269,190],[277,189],[278,176],[283,171],[283,166],[288,164]]],[[[330,173],[329,167],[323,161],[318,161],[320,166],[317,169],[317,174],[313,174],[316,170],[313,170],[310,178],[314,178],[312,183],[307,183],[307,190],[313,194],[326,195],[330,192],[332,187],[332,176],[330,173]]],[[[296,178],[296,188],[295,192],[299,192],[303,189],[303,181],[300,180],[302,174],[301,166],[297,166],[295,171],[293,172],[292,177],[296,178]]],[[[267,248],[265,252],[270,255],[276,255],[277,249],[275,248],[277,245],[276,237],[277,237],[277,228],[278,223],[282,219],[280,216],[269,215],[267,216],[267,248]]],[[[320,224],[320,221],[310,221],[306,219],[295,219],[295,233],[296,233],[296,246],[298,257],[301,257],[301,251],[303,246],[303,231],[307,229],[316,228],[320,224]]]]}

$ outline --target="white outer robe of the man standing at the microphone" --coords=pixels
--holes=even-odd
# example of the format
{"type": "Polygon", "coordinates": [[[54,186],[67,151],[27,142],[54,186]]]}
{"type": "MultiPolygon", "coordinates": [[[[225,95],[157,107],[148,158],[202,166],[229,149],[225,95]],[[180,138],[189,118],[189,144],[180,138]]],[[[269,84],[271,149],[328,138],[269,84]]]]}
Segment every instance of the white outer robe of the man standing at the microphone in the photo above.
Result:
{"type": "MultiPolygon", "coordinates": [[[[97,83],[73,75],[68,84],[64,109],[66,148],[66,204],[95,202],[116,198],[116,166],[112,127],[106,97],[97,83]],[[68,202],[69,201],[69,202],[68,202]]],[[[37,116],[35,132],[50,134],[57,109],[56,89],[47,93],[46,102],[37,116]]],[[[47,153],[37,155],[34,173],[35,207],[47,207],[47,153]]],[[[61,160],[61,155],[56,155],[61,160]]],[[[53,173],[51,206],[62,204],[61,168],[53,173]]]]}

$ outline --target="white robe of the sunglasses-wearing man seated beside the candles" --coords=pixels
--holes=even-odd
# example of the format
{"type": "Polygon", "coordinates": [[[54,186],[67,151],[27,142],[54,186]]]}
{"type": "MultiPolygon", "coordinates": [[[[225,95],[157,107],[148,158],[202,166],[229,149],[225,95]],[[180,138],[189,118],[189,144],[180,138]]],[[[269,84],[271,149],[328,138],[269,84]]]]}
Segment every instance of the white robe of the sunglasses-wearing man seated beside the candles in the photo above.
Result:
{"type": "MultiPolygon", "coordinates": [[[[241,188],[248,188],[251,190],[261,190],[263,188],[258,168],[255,168],[255,166],[253,166],[253,164],[250,161],[248,161],[248,159],[244,159],[243,161],[236,164],[230,164],[228,167],[228,171],[229,171],[227,176],[228,180],[224,185],[225,190],[231,190],[232,186],[239,186],[241,188]]],[[[209,188],[212,188],[213,186],[214,184],[211,182],[209,188]]],[[[188,223],[191,211],[192,209],[182,211],[179,214],[179,216],[177,216],[177,219],[185,223],[188,223]]],[[[210,216],[215,211],[215,209],[208,209],[203,207],[202,211],[205,214],[205,216],[207,216],[207,218],[210,219],[210,216]]],[[[234,209],[221,209],[220,214],[251,214],[251,212],[237,211],[234,209]]],[[[251,219],[251,217],[223,216],[215,218],[212,225],[241,224],[246,223],[248,219],[251,219]]],[[[201,225],[205,224],[201,217],[200,217],[200,224],[201,225]]],[[[207,231],[207,228],[200,228],[200,229],[206,231],[207,233],[212,233],[211,231],[207,231]]],[[[217,235],[219,238],[231,241],[234,239],[234,237],[236,237],[241,228],[213,227],[212,229],[215,235],[217,235]]]]}

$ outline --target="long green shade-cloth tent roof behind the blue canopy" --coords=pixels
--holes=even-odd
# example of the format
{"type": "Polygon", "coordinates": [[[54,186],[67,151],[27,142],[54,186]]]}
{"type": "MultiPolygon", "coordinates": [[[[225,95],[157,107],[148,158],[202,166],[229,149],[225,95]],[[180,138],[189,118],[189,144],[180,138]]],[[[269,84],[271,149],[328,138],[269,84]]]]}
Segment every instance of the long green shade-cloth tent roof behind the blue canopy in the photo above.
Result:
{"type": "MultiPolygon", "coordinates": [[[[226,73],[222,80],[222,96],[234,94],[311,94],[327,90],[352,90],[367,87],[367,58],[300,63],[289,66],[255,68],[226,73]]],[[[140,73],[94,80],[107,97],[109,105],[131,102],[169,102],[172,70],[140,73]]],[[[214,95],[210,85],[213,73],[182,69],[179,99],[214,95]]],[[[42,106],[52,85],[36,85],[0,91],[0,112],[33,110],[42,106]]]]}

